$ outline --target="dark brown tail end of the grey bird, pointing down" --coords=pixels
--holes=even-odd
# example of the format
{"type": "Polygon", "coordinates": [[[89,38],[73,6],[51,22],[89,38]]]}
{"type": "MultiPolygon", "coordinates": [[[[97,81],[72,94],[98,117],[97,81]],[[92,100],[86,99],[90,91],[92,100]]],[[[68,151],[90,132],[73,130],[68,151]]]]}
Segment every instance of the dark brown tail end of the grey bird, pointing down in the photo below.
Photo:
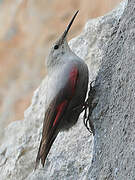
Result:
{"type": "Polygon", "coordinates": [[[42,140],[41,140],[40,146],[39,146],[39,150],[38,150],[38,154],[37,154],[37,158],[36,158],[35,170],[37,169],[40,160],[41,160],[42,166],[44,167],[46,157],[51,149],[51,146],[52,146],[54,140],[57,137],[57,135],[53,136],[51,134],[45,140],[43,140],[43,137],[42,137],[42,140]]]}

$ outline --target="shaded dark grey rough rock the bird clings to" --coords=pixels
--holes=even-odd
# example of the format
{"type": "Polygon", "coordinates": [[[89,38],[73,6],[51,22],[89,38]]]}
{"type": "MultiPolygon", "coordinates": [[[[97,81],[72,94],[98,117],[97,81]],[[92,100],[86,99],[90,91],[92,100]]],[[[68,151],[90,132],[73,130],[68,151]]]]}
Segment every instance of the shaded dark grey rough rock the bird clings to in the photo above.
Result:
{"type": "Polygon", "coordinates": [[[135,1],[104,48],[96,80],[94,157],[87,179],[135,179],[135,1]]]}

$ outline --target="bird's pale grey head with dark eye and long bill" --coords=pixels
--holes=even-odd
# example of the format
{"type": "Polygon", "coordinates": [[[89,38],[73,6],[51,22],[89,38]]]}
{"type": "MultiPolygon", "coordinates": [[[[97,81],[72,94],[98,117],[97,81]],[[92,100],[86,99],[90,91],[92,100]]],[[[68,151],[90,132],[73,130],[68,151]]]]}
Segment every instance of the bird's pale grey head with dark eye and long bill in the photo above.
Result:
{"type": "Polygon", "coordinates": [[[65,53],[70,52],[70,48],[67,43],[67,34],[71,28],[71,25],[73,24],[73,21],[75,17],[77,16],[79,11],[77,11],[73,18],[71,19],[70,23],[68,24],[67,28],[65,29],[64,33],[59,37],[59,39],[52,45],[50,53],[48,55],[46,64],[47,68],[51,68],[55,65],[57,65],[61,60],[62,56],[65,53]]]}

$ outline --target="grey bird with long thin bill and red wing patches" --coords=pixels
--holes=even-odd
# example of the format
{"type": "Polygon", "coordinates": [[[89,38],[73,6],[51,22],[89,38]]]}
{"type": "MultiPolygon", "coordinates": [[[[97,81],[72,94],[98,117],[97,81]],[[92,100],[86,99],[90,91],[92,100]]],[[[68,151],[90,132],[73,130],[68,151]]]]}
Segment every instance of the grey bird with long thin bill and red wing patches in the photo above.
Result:
{"type": "Polygon", "coordinates": [[[35,169],[40,162],[44,167],[59,132],[69,130],[75,125],[85,106],[89,81],[88,66],[70,49],[67,42],[67,34],[78,12],[79,10],[72,17],[64,33],[53,43],[46,59],[48,76],[50,76],[49,95],[47,94],[50,103],[44,115],[35,169]]]}

